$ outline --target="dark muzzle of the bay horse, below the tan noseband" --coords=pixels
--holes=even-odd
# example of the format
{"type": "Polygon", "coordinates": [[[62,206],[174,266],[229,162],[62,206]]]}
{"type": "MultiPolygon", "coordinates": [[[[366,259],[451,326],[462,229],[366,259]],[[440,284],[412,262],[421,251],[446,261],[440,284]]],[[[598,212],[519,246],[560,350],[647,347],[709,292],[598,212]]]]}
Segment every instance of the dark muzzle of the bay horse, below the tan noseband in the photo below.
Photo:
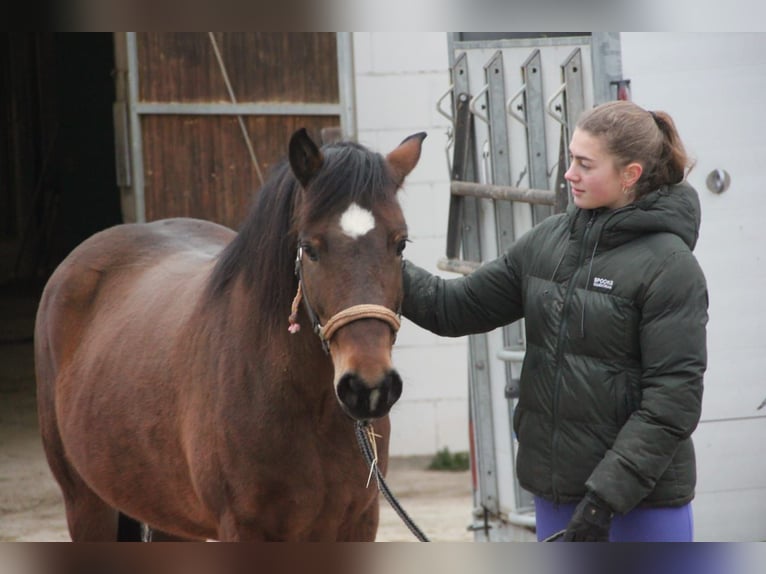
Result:
{"type": "Polygon", "coordinates": [[[336,392],[343,410],[357,420],[377,419],[388,414],[402,395],[402,378],[389,370],[376,383],[363,380],[353,372],[338,381],[336,392]]]}

